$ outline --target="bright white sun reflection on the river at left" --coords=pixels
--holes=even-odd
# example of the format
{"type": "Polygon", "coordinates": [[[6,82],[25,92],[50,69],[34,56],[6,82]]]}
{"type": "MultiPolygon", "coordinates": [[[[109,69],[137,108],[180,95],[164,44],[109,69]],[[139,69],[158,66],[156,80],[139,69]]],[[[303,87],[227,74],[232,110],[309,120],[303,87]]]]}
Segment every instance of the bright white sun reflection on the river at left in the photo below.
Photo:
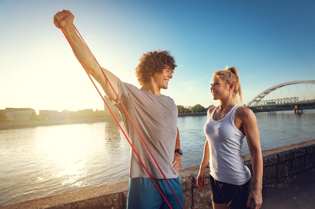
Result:
{"type": "Polygon", "coordinates": [[[38,135],[38,149],[46,155],[49,164],[58,165],[53,176],[65,177],[62,185],[80,187],[84,181],[80,180],[87,175],[84,152],[89,146],[88,131],[78,130],[77,126],[54,126],[45,133],[38,135]],[[66,130],[65,130],[66,129],[66,130]]]}

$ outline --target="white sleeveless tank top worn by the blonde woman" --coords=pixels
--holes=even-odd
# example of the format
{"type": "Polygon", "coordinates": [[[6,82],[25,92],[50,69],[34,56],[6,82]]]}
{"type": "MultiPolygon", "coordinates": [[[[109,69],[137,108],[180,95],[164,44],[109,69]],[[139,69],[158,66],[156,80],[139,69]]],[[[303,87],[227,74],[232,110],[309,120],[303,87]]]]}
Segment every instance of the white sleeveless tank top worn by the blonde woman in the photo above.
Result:
{"type": "Polygon", "coordinates": [[[210,174],[218,181],[242,185],[251,178],[250,169],[241,156],[245,135],[234,125],[235,104],[221,120],[214,120],[212,111],[204,126],[209,145],[210,174]]]}

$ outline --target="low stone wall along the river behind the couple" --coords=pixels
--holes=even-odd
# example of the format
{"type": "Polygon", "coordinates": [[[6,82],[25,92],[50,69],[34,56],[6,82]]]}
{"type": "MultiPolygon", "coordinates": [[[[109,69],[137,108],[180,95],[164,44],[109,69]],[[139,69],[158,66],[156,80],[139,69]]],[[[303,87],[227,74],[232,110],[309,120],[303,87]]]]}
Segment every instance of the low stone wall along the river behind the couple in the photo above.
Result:
{"type": "MultiPolygon", "coordinates": [[[[250,155],[243,155],[243,159],[251,169],[250,155]]],[[[284,177],[315,167],[315,139],[265,150],[263,151],[263,159],[263,183],[281,181],[284,177]]],[[[198,171],[199,165],[180,170],[185,209],[212,208],[210,206],[209,174],[206,176],[206,188],[199,189],[196,185],[198,171]]],[[[123,209],[126,207],[127,188],[128,181],[125,181],[13,203],[0,208],[123,209]]]]}

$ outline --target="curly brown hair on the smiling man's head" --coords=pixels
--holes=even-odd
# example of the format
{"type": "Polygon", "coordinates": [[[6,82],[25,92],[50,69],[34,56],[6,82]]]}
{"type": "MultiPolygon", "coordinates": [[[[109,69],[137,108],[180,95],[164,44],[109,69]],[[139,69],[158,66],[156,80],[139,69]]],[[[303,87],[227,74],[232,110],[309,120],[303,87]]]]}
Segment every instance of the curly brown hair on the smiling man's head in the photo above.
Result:
{"type": "Polygon", "coordinates": [[[139,61],[135,73],[141,86],[149,81],[150,76],[163,73],[163,69],[168,68],[173,74],[177,67],[175,59],[169,51],[151,51],[143,54],[139,61]]]}

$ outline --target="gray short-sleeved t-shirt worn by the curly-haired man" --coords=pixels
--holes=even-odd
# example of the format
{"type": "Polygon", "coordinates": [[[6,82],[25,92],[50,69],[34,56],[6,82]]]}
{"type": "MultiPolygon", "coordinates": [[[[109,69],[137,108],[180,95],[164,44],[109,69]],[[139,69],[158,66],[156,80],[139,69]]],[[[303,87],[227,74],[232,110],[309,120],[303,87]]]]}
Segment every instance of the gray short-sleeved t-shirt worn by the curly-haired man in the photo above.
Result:
{"type": "MultiPolygon", "coordinates": [[[[172,166],[178,117],[178,108],[174,100],[168,96],[157,96],[140,90],[119,79],[118,89],[118,96],[122,104],[166,178],[178,177],[178,173],[172,166]]],[[[114,105],[119,109],[129,139],[150,175],[153,178],[164,179],[120,102],[118,101],[114,105]]],[[[131,178],[148,178],[149,175],[134,151],[130,149],[130,152],[129,176],[131,178]]]]}

